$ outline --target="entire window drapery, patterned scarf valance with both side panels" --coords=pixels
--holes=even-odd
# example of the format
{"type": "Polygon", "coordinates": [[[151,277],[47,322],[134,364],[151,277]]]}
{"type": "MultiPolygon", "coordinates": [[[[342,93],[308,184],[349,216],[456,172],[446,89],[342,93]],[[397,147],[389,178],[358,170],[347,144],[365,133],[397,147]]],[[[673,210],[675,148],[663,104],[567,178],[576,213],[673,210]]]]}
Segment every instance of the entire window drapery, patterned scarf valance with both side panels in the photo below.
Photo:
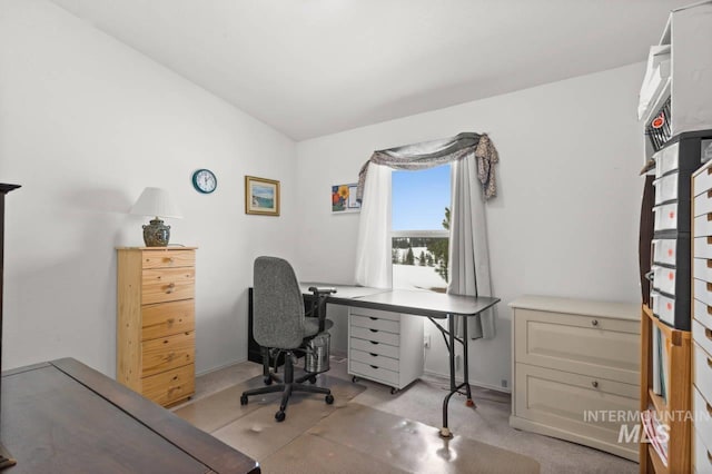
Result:
{"type": "MultiPolygon", "coordinates": [[[[356,283],[376,288],[392,287],[390,169],[418,170],[452,162],[447,293],[492,295],[484,203],[496,196],[494,166],[498,160],[492,140],[484,134],[474,132],[375,151],[358,175],[357,199],[362,201],[362,213],[356,283]]],[[[471,318],[469,337],[493,338],[494,322],[494,308],[471,318]]],[[[464,336],[461,329],[458,333],[464,336]]]]}

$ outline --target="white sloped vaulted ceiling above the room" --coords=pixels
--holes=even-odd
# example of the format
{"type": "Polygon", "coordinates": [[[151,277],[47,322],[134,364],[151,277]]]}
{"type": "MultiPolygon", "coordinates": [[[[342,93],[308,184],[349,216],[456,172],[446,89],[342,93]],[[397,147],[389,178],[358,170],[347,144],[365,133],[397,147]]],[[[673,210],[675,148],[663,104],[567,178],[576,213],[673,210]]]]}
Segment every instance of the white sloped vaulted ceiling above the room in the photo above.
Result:
{"type": "Polygon", "coordinates": [[[691,2],[53,1],[295,140],[644,61],[691,2]]]}

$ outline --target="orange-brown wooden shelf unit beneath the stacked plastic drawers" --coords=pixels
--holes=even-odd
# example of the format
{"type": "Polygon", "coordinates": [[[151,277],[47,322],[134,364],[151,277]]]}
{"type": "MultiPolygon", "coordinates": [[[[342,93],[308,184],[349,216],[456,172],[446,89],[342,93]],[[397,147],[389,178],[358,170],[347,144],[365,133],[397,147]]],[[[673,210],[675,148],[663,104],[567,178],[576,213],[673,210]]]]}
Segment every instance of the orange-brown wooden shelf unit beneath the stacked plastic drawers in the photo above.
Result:
{"type": "MultiPolygon", "coordinates": [[[[642,438],[640,444],[641,473],[689,473],[691,470],[691,346],[690,332],[673,329],[661,323],[651,309],[642,306],[641,314],[641,412],[652,405],[660,419],[669,426],[668,466],[664,465],[652,444],[642,438]],[[670,363],[668,401],[653,393],[653,327],[659,327],[666,339],[670,363]]],[[[641,435],[642,435],[641,426],[641,435]]]]}

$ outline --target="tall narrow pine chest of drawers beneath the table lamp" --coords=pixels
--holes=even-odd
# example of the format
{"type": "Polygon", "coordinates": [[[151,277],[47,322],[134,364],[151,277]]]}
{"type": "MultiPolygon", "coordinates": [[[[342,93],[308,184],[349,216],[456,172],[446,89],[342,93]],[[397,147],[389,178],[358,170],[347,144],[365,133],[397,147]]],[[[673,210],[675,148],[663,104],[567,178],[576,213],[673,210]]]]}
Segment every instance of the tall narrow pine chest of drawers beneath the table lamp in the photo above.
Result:
{"type": "Polygon", "coordinates": [[[117,381],[174,405],[195,393],[196,247],[117,251],[117,381]]]}

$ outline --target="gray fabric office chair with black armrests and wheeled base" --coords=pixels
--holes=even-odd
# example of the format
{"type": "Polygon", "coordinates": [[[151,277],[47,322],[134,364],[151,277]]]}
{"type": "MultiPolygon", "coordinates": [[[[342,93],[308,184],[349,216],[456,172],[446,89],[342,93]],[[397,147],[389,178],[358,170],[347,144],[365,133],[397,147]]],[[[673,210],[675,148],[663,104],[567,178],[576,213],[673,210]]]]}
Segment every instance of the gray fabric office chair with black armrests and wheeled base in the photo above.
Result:
{"type": "MultiPolygon", "coordinates": [[[[285,355],[284,382],[274,373],[265,374],[267,386],[243,392],[240,404],[247,405],[248,397],[267,393],[283,392],[279,412],[275,414],[277,422],[286,417],[285,409],[293,392],[310,392],[326,395],[328,405],[334,396],[328,388],[305,385],[303,382],[316,382],[316,373],[307,372],[294,378],[296,350],[306,350],[305,342],[322,330],[328,329],[332,322],[322,317],[305,317],[304,297],[294,269],[287,260],[277,257],[257,257],[254,267],[253,289],[253,337],[260,346],[285,355]],[[271,382],[279,382],[271,385],[271,382]]],[[[312,288],[310,288],[312,289],[312,288]]],[[[315,288],[315,296],[324,297],[327,292],[315,288]]],[[[266,354],[263,350],[263,358],[266,354]]]]}

